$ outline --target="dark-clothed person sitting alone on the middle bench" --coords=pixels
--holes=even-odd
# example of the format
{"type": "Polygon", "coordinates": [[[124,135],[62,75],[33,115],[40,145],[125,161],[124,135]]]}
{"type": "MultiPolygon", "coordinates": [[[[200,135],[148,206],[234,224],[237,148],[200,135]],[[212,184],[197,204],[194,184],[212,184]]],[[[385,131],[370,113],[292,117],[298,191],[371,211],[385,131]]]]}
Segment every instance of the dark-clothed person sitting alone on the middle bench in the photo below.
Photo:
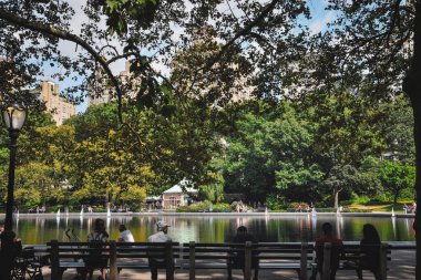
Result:
{"type": "MultiPolygon", "coordinates": [[[[237,228],[237,235],[233,239],[233,243],[246,243],[246,241],[256,242],[256,239],[247,234],[247,228],[245,226],[240,226],[237,228]]],[[[254,280],[258,279],[259,273],[259,260],[254,255],[251,257],[251,268],[255,269],[255,277],[254,280]]],[[[233,279],[232,270],[233,268],[240,268],[244,272],[244,265],[245,265],[245,256],[244,251],[238,251],[234,253],[234,258],[229,258],[227,261],[227,268],[228,268],[228,280],[233,279]]]]}

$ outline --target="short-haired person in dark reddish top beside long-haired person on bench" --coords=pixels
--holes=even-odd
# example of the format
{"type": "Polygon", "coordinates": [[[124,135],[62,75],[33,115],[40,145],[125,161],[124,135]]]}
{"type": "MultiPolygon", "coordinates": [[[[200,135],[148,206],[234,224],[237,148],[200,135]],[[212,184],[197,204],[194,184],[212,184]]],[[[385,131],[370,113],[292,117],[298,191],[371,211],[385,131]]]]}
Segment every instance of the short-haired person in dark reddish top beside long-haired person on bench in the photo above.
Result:
{"type": "Polygon", "coordinates": [[[339,260],[340,256],[343,255],[343,243],[342,240],[333,237],[333,229],[332,226],[329,222],[325,222],[321,226],[321,229],[324,230],[324,235],[316,239],[316,262],[317,262],[317,270],[312,272],[312,276],[310,279],[315,280],[317,272],[320,273],[320,276],[324,272],[324,249],[325,243],[331,243],[331,255],[330,255],[330,280],[335,280],[336,271],[339,268],[339,260]]]}

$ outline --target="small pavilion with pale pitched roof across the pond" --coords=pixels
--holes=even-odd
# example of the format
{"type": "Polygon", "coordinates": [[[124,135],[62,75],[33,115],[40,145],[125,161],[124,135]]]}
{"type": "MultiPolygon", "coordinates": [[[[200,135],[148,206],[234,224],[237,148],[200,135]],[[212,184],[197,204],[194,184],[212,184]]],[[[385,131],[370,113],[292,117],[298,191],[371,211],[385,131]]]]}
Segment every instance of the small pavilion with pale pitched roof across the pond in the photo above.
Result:
{"type": "Polygon", "coordinates": [[[162,207],[163,208],[175,208],[177,206],[188,205],[188,199],[192,196],[196,196],[198,190],[193,187],[187,187],[191,185],[188,180],[183,179],[177,185],[174,185],[170,189],[162,194],[162,207]],[[183,188],[185,191],[183,191],[183,188]]]}

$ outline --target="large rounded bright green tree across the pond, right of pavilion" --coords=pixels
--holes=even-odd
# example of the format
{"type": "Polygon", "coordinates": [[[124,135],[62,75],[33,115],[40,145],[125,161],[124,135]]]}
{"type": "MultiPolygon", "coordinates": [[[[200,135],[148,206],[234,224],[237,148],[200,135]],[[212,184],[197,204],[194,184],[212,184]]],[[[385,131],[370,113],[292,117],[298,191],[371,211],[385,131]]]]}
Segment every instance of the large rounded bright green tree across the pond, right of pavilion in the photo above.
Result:
{"type": "Polygon", "coordinates": [[[297,118],[288,103],[273,108],[273,115],[264,113],[268,111],[264,103],[260,106],[255,115],[239,114],[237,133],[227,138],[226,190],[243,193],[249,201],[263,203],[269,194],[294,199],[302,193],[311,200],[320,178],[318,167],[308,160],[314,127],[297,118]]]}

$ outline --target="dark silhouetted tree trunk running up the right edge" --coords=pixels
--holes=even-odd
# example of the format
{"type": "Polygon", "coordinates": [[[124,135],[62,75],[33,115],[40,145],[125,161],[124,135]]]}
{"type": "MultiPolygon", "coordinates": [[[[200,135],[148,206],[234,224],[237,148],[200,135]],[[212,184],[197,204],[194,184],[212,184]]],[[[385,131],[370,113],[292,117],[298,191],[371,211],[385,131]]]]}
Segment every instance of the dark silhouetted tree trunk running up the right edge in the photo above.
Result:
{"type": "MultiPolygon", "coordinates": [[[[413,56],[412,64],[403,81],[403,91],[411,100],[414,118],[415,142],[415,201],[421,204],[421,0],[415,1],[415,23],[413,29],[413,56]]],[[[421,279],[421,217],[415,214],[417,239],[417,268],[415,279],[421,279]]]]}

